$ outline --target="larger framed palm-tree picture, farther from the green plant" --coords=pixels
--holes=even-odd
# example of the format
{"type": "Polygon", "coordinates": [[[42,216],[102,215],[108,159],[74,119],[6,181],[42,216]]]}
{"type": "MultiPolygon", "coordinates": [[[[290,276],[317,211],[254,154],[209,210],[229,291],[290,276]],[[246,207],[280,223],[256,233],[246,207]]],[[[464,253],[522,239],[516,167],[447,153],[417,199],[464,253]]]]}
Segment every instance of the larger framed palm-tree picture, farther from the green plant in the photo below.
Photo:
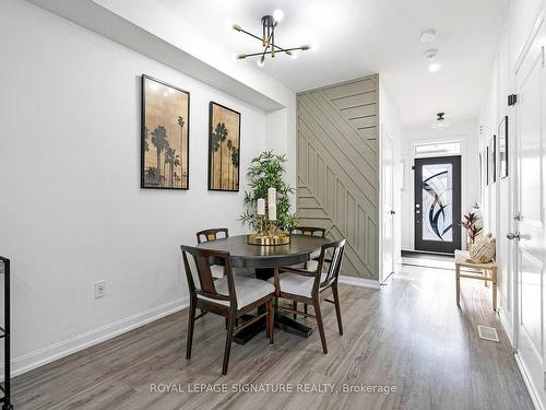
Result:
{"type": "Polygon", "coordinates": [[[141,188],[189,188],[190,93],[142,75],[141,188]]]}

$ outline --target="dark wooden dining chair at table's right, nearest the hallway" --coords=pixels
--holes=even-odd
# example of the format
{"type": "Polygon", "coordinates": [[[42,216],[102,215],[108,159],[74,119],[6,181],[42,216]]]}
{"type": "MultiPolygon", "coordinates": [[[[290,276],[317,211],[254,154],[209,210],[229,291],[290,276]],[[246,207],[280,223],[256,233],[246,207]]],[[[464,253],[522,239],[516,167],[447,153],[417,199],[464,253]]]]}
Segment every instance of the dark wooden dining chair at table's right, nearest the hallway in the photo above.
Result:
{"type": "Polygon", "coordinates": [[[340,277],[340,268],[343,259],[343,251],[345,249],[345,239],[333,242],[331,244],[322,245],[320,249],[319,262],[314,271],[307,269],[285,267],[275,269],[274,278],[270,282],[275,283],[275,295],[277,297],[287,298],[295,302],[302,302],[313,306],[314,315],[306,312],[300,312],[294,308],[280,306],[278,302],[275,303],[275,309],[293,313],[295,315],[302,315],[306,317],[314,317],[319,328],[320,341],[322,343],[322,351],[328,353],[327,339],[324,336],[324,326],[322,324],[322,314],[320,311],[320,294],[328,289],[332,290],[333,301],[325,298],[324,301],[335,305],[335,315],[337,316],[337,328],[340,335],[343,335],[343,324],[340,309],[340,294],[337,292],[337,280],[340,277]],[[329,269],[322,272],[322,266],[325,261],[328,251],[332,253],[329,269]]]}

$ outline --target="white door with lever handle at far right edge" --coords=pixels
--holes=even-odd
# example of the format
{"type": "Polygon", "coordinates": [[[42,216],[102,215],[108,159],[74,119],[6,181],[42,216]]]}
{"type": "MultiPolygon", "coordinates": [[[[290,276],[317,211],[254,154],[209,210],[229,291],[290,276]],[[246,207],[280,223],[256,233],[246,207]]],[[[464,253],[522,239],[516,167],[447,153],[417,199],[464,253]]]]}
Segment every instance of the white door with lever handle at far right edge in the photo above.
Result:
{"type": "Polygon", "coordinates": [[[544,22],[515,73],[517,201],[514,239],[517,349],[535,391],[544,399],[545,96],[544,22]]]}

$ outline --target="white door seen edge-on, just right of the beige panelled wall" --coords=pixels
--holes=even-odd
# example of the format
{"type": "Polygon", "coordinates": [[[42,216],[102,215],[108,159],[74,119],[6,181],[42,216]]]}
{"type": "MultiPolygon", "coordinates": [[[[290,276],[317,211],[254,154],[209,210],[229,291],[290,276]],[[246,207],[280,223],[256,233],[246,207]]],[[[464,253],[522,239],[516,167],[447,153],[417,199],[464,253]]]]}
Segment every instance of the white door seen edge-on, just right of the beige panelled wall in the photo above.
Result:
{"type": "MultiPolygon", "coordinates": [[[[381,127],[383,128],[383,127],[381,127]]],[[[394,151],[391,136],[381,131],[381,278],[383,282],[394,272],[394,207],[393,207],[393,167],[394,151]]]]}

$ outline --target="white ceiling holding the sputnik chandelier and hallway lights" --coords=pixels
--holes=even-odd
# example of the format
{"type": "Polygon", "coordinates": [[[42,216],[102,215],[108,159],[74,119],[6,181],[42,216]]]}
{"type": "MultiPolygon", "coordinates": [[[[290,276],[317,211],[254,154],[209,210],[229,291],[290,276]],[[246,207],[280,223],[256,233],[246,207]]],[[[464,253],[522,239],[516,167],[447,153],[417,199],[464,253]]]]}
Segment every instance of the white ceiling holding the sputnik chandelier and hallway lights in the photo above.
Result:
{"type": "MultiPolygon", "coordinates": [[[[237,33],[237,23],[261,33],[260,19],[282,9],[275,33],[283,47],[316,44],[292,60],[277,55],[264,70],[294,91],[380,73],[399,104],[402,124],[477,117],[509,0],[156,0],[230,54],[260,50],[237,33]],[[429,44],[419,40],[437,31],[429,44]],[[439,49],[441,69],[430,73],[425,51],[439,49]]],[[[256,65],[256,60],[234,63],[256,65]]]]}

